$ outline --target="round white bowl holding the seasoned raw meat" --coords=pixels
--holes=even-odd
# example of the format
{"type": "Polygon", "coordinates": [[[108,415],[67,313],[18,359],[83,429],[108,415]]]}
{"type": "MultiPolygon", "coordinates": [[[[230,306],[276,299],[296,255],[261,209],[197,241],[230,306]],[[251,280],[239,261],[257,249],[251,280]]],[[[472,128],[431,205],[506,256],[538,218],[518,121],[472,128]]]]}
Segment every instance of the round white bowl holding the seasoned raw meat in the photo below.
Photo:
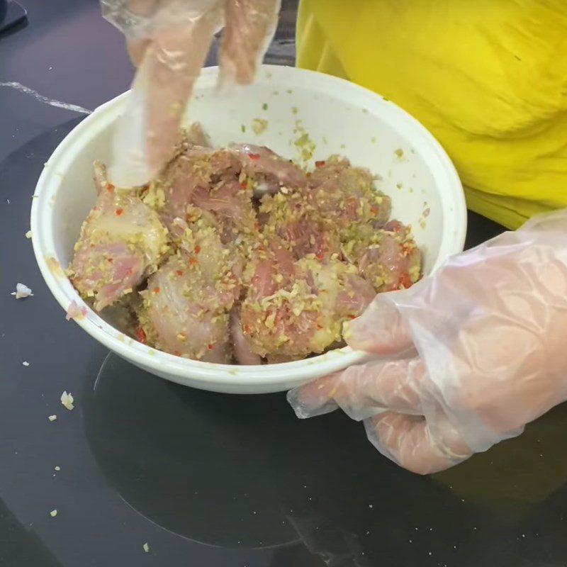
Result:
{"type": "MultiPolygon", "coordinates": [[[[189,106],[191,119],[203,124],[214,145],[247,141],[295,159],[305,146],[294,142],[308,133],[315,144],[313,160],[338,153],[381,176],[377,185],[392,197],[393,218],[412,225],[424,252],[425,274],[463,249],[466,207],[459,177],[439,143],[403,110],[355,84],[293,67],[264,66],[252,86],[221,96],[217,73],[215,67],[203,70],[189,106]],[[254,118],[268,120],[263,133],[252,130],[254,118]]],[[[103,104],[65,137],[35,189],[33,249],[47,286],[64,309],[72,301],[85,305],[57,266],[66,267],[72,259],[79,228],[96,199],[92,162],[109,161],[111,126],[127,96],[103,104]]],[[[211,391],[285,391],[365,358],[364,353],[344,348],[286,364],[210,364],[140,344],[90,308],[77,322],[136,366],[211,391]]]]}

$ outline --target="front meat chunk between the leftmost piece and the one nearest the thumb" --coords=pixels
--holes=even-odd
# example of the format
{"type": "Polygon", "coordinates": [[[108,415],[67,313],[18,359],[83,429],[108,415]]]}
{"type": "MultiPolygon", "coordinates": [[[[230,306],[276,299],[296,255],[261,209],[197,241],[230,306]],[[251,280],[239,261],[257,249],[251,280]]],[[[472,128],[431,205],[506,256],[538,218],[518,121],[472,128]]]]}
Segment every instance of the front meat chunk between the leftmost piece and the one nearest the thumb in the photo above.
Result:
{"type": "Polygon", "coordinates": [[[149,344],[179,357],[228,363],[229,312],[240,296],[242,263],[215,230],[188,226],[177,250],[150,276],[138,313],[149,344]]]}

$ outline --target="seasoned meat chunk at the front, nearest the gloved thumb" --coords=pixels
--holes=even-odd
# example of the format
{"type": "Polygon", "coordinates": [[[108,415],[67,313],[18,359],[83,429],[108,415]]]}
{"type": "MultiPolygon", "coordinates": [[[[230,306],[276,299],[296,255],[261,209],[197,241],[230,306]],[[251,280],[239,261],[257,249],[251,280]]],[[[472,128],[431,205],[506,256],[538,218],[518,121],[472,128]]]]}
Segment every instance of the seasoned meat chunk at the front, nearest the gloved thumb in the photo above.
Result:
{"type": "Polygon", "coordinates": [[[305,257],[281,271],[274,257],[254,265],[242,303],[242,330],[252,352],[269,361],[324,352],[342,340],[344,321],[362,313],[376,293],[354,266],[305,257]]]}

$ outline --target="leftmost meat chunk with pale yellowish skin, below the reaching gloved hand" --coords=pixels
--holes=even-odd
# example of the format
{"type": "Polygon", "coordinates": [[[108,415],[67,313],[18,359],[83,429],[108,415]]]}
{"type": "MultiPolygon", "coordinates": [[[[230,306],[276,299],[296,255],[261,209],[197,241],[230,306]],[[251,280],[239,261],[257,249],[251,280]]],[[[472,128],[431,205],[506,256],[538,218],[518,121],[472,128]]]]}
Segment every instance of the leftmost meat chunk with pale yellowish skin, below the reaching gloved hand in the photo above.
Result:
{"type": "Polygon", "coordinates": [[[70,278],[102,310],[155,271],[166,251],[167,230],[157,213],[135,192],[106,184],[82,225],[70,278]]]}

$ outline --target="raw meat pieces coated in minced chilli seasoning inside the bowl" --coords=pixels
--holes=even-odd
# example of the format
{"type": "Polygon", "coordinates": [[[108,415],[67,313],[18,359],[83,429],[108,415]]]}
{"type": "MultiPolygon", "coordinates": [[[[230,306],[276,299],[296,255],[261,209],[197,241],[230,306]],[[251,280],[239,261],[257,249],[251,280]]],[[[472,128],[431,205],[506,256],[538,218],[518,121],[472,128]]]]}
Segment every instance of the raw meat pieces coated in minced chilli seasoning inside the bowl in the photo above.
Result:
{"type": "MultiPolygon", "coordinates": [[[[296,133],[310,159],[301,123],[296,133]]],[[[214,149],[193,125],[150,184],[112,186],[99,162],[94,179],[71,280],[107,320],[120,308],[120,330],[178,357],[264,364],[320,354],[344,344],[344,324],[376,293],[421,277],[420,250],[391,220],[391,199],[343,157],[301,169],[266,147],[214,149]]]]}

